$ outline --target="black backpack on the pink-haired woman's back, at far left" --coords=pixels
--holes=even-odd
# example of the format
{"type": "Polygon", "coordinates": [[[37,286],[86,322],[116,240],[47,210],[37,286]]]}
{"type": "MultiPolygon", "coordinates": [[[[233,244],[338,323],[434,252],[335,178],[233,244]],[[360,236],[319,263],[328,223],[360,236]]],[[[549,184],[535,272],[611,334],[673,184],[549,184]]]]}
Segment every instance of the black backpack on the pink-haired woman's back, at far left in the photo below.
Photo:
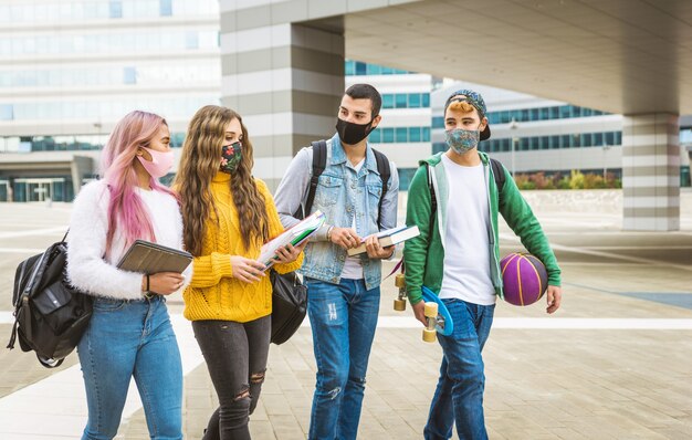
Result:
{"type": "Polygon", "coordinates": [[[22,261],[14,274],[14,326],[8,348],[19,338],[41,365],[60,366],[80,343],[92,317],[92,297],[66,280],[65,237],[45,252],[22,261]]]}

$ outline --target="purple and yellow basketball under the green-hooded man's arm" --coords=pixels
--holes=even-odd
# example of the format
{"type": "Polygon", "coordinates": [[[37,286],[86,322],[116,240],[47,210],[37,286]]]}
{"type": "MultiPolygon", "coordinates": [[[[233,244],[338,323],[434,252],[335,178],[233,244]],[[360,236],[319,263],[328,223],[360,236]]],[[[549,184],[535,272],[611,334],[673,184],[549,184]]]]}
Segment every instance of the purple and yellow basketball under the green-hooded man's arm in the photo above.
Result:
{"type": "Polygon", "coordinates": [[[500,262],[504,300],[514,305],[530,305],[541,300],[548,286],[545,265],[530,253],[511,253],[500,262]]]}

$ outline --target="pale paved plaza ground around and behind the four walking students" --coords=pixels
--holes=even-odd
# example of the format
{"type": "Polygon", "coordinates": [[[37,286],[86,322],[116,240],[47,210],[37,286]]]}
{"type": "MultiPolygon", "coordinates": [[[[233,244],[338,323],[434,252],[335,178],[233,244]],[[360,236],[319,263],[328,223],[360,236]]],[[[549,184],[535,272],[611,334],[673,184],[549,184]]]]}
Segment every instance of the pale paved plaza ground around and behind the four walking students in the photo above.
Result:
{"type": "MultiPolygon", "coordinates": [[[[620,191],[524,193],[556,250],[564,298],[549,317],[544,303],[497,304],[484,350],[491,439],[692,439],[692,192],[681,197],[681,231],[669,233],[621,231],[620,191]]],[[[0,336],[11,329],[18,262],[62,237],[70,208],[0,203],[0,336]]],[[[504,224],[501,247],[521,249],[504,224]]],[[[420,439],[441,349],[421,341],[410,310],[392,311],[394,281],[382,287],[359,438],[420,439]]],[[[169,306],[186,371],[185,433],[199,439],[216,397],[180,298],[169,306]]],[[[78,438],[86,406],[76,355],[49,370],[33,354],[3,349],[0,371],[1,439],[78,438]]],[[[314,381],[304,326],[271,348],[253,438],[304,439],[314,381]]],[[[148,438],[135,388],[118,438],[148,438]]]]}

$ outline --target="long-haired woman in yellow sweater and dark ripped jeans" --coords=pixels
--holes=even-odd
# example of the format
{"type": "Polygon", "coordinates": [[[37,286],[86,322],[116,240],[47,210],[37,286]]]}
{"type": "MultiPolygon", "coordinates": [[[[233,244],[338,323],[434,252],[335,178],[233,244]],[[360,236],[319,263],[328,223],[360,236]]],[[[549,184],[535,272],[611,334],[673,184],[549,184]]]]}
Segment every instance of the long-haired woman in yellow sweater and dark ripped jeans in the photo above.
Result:
{"type": "MultiPolygon", "coordinates": [[[[186,249],[195,255],[184,293],[219,397],[205,439],[249,439],[266,369],[272,285],[256,261],[283,232],[266,185],[252,177],[252,144],[235,112],[214,105],[192,117],[175,187],[182,201],[186,249]]],[[[303,247],[277,252],[280,273],[298,269],[303,247]]]]}

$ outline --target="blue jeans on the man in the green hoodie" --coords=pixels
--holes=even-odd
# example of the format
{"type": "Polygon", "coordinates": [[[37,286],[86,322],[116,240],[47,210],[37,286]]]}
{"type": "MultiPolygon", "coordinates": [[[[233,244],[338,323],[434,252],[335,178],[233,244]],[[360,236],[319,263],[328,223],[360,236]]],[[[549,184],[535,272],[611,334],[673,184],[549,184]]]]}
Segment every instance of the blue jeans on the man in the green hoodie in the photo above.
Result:
{"type": "Polygon", "coordinates": [[[457,422],[460,439],[487,439],[483,416],[485,375],[481,350],[493,324],[495,305],[478,305],[461,300],[442,300],[454,322],[449,336],[438,334],[444,357],[434,391],[426,440],[450,439],[457,422]]]}

